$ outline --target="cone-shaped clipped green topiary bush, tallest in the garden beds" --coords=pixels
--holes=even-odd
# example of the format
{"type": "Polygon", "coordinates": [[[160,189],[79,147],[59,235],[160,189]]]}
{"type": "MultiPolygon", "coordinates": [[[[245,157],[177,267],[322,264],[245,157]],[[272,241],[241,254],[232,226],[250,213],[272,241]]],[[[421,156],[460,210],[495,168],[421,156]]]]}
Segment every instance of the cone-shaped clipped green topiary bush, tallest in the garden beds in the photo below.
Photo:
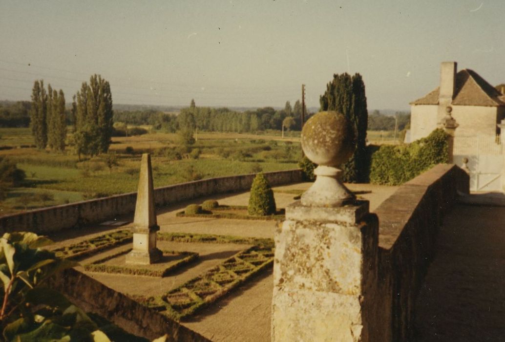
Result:
{"type": "Polygon", "coordinates": [[[252,181],[247,213],[255,216],[275,214],[274,192],[263,173],[258,173],[252,181]]]}

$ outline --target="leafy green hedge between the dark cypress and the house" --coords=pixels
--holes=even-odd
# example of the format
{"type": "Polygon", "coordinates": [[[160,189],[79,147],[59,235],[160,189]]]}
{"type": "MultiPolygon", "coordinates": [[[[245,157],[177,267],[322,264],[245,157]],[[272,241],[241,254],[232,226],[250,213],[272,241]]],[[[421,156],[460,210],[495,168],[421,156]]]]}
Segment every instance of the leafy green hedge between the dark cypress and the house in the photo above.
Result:
{"type": "Polygon", "coordinates": [[[400,185],[447,160],[447,133],[438,128],[410,144],[382,145],[372,155],[370,182],[400,185]]]}

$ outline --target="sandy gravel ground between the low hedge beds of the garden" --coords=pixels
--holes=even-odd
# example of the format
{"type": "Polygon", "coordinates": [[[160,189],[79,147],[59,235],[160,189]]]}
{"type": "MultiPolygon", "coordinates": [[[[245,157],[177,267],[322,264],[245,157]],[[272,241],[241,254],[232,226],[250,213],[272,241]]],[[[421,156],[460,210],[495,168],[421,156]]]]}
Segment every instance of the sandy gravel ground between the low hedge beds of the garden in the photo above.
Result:
{"type": "MultiPolygon", "coordinates": [[[[306,190],[312,183],[298,183],[275,187],[274,196],[278,208],[285,208],[295,200],[294,193],[282,191],[306,190]]],[[[370,201],[370,211],[373,212],[397,187],[379,186],[371,184],[347,184],[349,189],[357,191],[357,196],[370,201]]],[[[216,199],[223,205],[247,205],[249,193],[224,194],[201,198],[195,201],[180,203],[163,208],[158,213],[158,224],[162,232],[186,232],[200,234],[236,235],[247,237],[274,237],[274,228],[280,222],[235,220],[235,219],[207,219],[176,217],[186,205],[202,203],[206,199],[216,199]]],[[[132,221],[131,216],[117,217],[117,220],[132,221]]],[[[129,225],[120,228],[88,227],[83,230],[60,232],[53,236],[55,247],[75,243],[104,231],[128,229],[129,225]]],[[[167,250],[194,251],[200,254],[200,259],[173,276],[165,278],[151,278],[145,276],[128,276],[119,274],[91,273],[91,277],[103,282],[107,286],[125,294],[159,295],[179,286],[194,276],[205,272],[209,268],[221,263],[235,253],[248,248],[247,245],[212,244],[212,243],[179,243],[160,241],[159,247],[167,250]]],[[[122,246],[111,251],[93,256],[83,262],[103,258],[121,249],[122,246]]],[[[81,268],[81,270],[83,270],[81,268]]],[[[190,322],[183,323],[190,329],[215,341],[269,341],[270,340],[270,306],[272,300],[273,280],[271,271],[258,275],[253,281],[234,290],[229,296],[216,302],[213,306],[199,313],[190,322]]]]}

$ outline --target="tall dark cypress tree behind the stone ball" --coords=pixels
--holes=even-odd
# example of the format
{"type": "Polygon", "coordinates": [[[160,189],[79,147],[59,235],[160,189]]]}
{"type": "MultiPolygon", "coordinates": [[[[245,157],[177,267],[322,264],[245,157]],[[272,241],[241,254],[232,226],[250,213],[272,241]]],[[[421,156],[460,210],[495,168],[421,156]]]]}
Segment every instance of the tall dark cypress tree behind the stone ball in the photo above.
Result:
{"type": "Polygon", "coordinates": [[[355,130],[356,150],[352,157],[341,166],[342,177],[346,182],[367,181],[367,97],[365,83],[360,74],[350,76],[347,73],[334,74],[326,85],[326,91],[319,98],[321,111],[337,111],[344,114],[355,130]]]}

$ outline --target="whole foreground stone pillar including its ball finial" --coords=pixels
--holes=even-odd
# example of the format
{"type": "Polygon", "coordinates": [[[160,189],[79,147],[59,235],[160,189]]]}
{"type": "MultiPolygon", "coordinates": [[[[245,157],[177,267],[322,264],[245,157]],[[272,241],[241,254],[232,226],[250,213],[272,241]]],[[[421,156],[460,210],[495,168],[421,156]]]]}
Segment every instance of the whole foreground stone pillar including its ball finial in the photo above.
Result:
{"type": "Polygon", "coordinates": [[[336,168],[352,154],[352,140],[336,112],[318,113],[302,130],[302,149],[319,167],[275,232],[272,341],[374,340],[377,217],[336,168]]]}

